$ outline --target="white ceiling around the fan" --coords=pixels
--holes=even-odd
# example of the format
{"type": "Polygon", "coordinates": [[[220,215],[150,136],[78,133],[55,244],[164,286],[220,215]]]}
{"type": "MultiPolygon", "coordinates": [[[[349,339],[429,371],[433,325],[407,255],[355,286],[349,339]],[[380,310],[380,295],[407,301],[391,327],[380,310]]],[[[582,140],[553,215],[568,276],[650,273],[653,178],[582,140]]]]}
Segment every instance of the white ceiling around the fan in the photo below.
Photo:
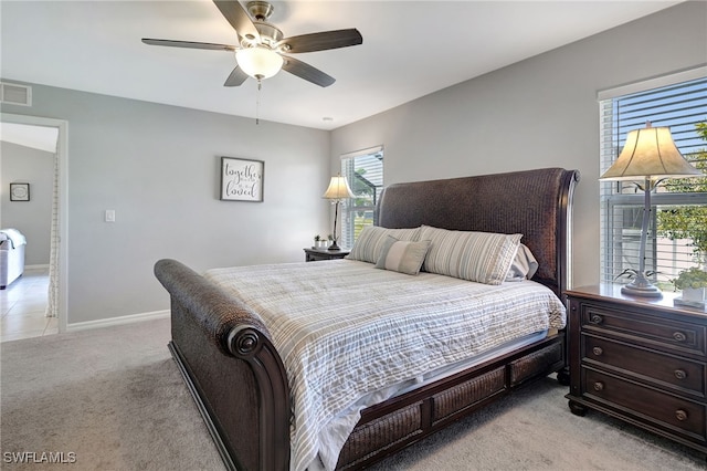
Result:
{"type": "MultiPolygon", "coordinates": [[[[270,21],[285,36],[345,28],[363,36],[361,45],[296,55],[337,78],[327,88],[286,72],[263,81],[261,119],[333,129],[679,1],[273,3],[270,21]]],[[[0,8],[6,81],[256,115],[254,80],[222,86],[235,65],[232,53],[140,42],[236,44],[211,0],[1,0],[0,8]]]]}

